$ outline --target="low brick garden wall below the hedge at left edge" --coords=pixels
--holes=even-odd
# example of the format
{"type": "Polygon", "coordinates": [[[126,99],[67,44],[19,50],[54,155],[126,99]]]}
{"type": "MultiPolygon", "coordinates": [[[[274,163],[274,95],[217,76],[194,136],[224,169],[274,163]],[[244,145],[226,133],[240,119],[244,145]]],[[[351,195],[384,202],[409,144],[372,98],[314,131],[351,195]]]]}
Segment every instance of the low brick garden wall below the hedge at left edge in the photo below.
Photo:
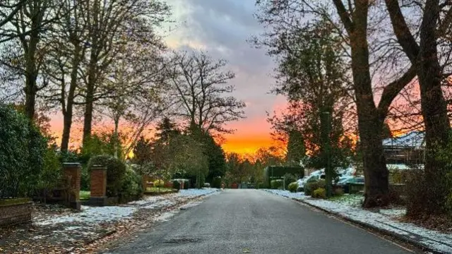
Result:
{"type": "MultiPolygon", "coordinates": [[[[14,201],[14,200],[11,200],[14,201]]],[[[32,202],[0,203],[0,226],[31,221],[32,202]]]]}

